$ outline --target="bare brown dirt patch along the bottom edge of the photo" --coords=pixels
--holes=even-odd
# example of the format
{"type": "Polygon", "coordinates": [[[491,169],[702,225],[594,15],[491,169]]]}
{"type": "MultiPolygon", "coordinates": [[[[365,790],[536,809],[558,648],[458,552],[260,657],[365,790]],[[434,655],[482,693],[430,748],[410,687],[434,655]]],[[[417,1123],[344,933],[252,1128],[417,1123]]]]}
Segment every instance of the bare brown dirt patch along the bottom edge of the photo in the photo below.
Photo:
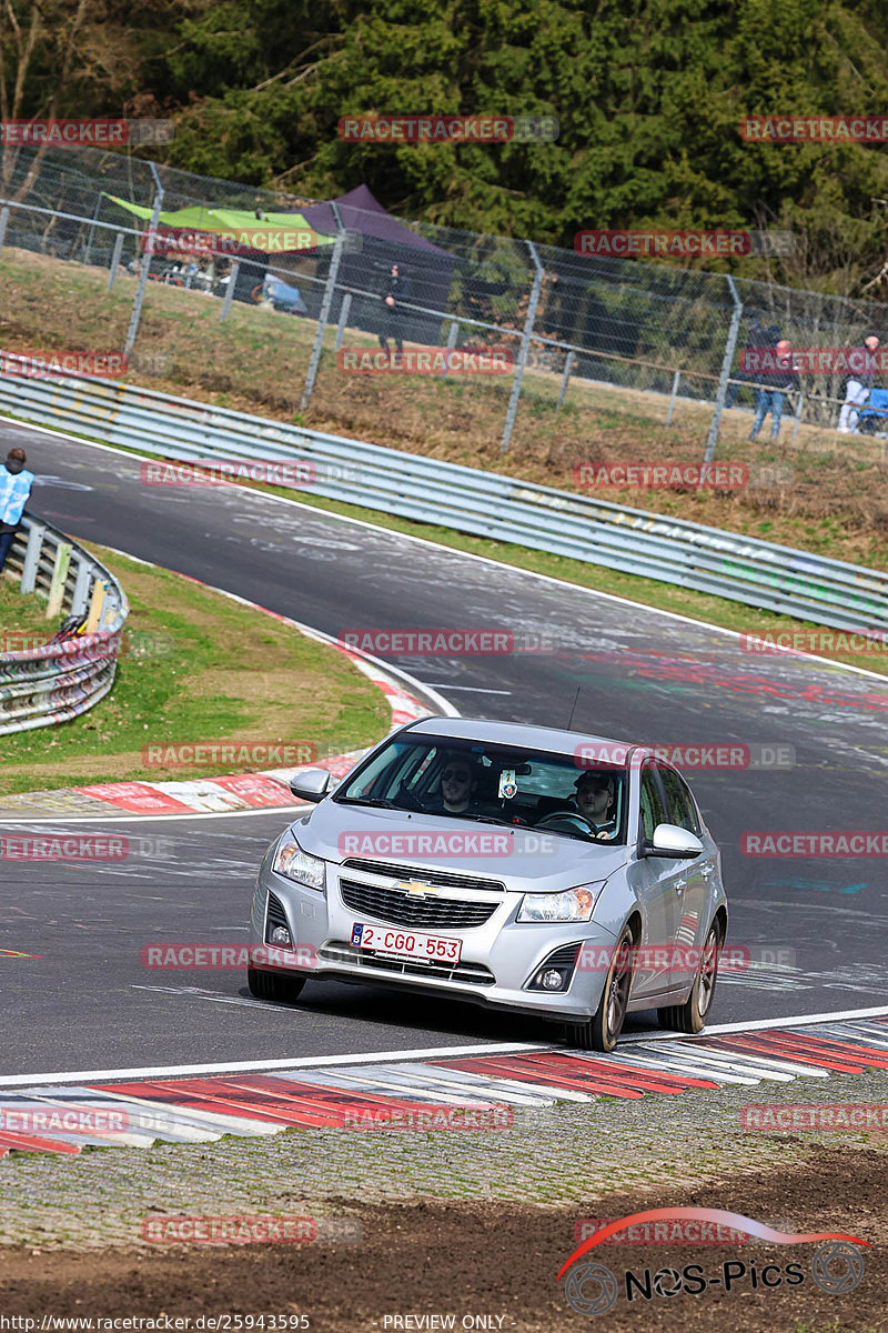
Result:
{"type": "MultiPolygon", "coordinates": [[[[884,1153],[877,1150],[823,1148],[803,1168],[731,1173],[718,1188],[599,1194],[571,1208],[483,1200],[398,1206],[335,1201],[337,1216],[359,1221],[363,1236],[357,1244],[99,1253],[11,1249],[0,1253],[3,1312],[37,1320],[43,1314],[156,1317],[165,1312],[170,1318],[194,1320],[200,1314],[305,1313],[320,1333],[423,1326],[385,1321],[407,1314],[453,1314],[457,1329],[525,1333],[596,1326],[670,1333],[875,1333],[884,1328],[888,1281],[884,1165],[884,1153]],[[784,1232],[848,1233],[873,1248],[859,1249],[865,1265],[860,1285],[847,1294],[828,1294],[812,1277],[813,1244],[598,1246],[590,1261],[594,1257],[615,1274],[616,1302],[600,1324],[571,1310],[555,1274],[575,1249],[575,1222],[671,1206],[726,1209],[784,1232]],[[730,1272],[730,1290],[724,1289],[727,1262],[747,1266],[742,1276],[736,1268],[730,1272]],[[797,1285],[781,1281],[767,1288],[759,1280],[766,1265],[779,1265],[783,1277],[791,1262],[803,1273],[797,1285]],[[663,1268],[680,1272],[692,1264],[702,1266],[707,1280],[719,1278],[718,1285],[672,1298],[654,1289],[646,1298],[632,1288],[634,1298],[626,1298],[627,1269],[644,1285],[646,1269],[651,1274],[663,1268]],[[481,1316],[490,1322],[477,1322],[481,1316]],[[474,1325],[466,1322],[469,1317],[474,1325]]],[[[306,1216],[310,1208],[301,1201],[293,1213],[306,1216]]],[[[776,1272],[768,1270],[771,1281],[776,1272]]],[[[664,1285],[671,1288],[674,1280],[664,1285]]]]}

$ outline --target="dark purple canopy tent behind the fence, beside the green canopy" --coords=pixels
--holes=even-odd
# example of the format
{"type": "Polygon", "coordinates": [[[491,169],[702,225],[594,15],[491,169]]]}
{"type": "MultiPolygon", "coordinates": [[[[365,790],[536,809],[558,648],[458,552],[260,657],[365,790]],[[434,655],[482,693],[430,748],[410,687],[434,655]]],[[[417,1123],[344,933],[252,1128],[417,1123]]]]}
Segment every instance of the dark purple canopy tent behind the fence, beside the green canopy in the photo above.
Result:
{"type": "MultiPolygon", "coordinates": [[[[426,309],[431,311],[447,309],[450,283],[457,263],[455,255],[450,255],[422,236],[417,236],[409,227],[386,213],[366,185],[358,185],[347,195],[341,195],[335,204],[342,225],[361,233],[362,249],[361,253],[350,253],[346,249],[342,256],[330,313],[333,323],[339,319],[339,307],[346,289],[381,293],[394,263],[409,279],[407,300],[413,305],[425,305],[426,309]]],[[[300,212],[317,232],[324,232],[328,236],[335,235],[335,216],[330,204],[312,204],[308,208],[301,208],[300,212]]],[[[313,291],[304,292],[304,295],[312,316],[317,317],[322,291],[314,284],[308,285],[313,291]]],[[[354,296],[349,324],[353,328],[375,333],[379,328],[379,296],[354,296]]],[[[435,344],[441,337],[441,320],[427,315],[409,315],[402,321],[402,332],[411,343],[435,344]]]]}

